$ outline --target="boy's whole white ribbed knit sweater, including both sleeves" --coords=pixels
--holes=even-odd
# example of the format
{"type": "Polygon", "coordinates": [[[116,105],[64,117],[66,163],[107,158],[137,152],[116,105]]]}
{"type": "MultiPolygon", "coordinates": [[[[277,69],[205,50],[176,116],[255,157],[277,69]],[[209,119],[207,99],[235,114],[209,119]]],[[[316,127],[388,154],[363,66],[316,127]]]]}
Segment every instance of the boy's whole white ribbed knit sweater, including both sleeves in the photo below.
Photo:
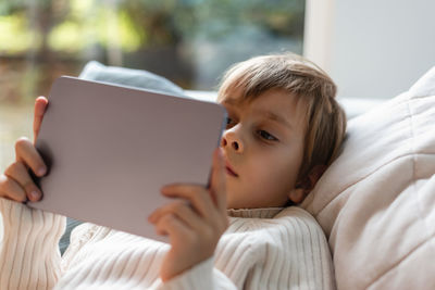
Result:
{"type": "Polygon", "coordinates": [[[65,217],[0,199],[0,289],[334,289],[330,249],[299,207],[229,210],[214,256],[162,282],[169,244],[84,224],[61,257],[65,217]]]}

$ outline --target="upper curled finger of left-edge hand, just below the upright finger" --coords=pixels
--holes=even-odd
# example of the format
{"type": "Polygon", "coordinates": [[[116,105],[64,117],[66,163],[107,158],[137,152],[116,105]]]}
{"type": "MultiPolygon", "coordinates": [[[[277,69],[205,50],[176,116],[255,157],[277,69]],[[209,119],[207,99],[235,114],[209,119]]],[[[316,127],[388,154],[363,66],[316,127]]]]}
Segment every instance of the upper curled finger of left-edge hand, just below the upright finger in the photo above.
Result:
{"type": "Polygon", "coordinates": [[[15,154],[16,161],[30,167],[37,176],[41,177],[47,173],[47,165],[27,138],[22,137],[15,142],[15,154]]]}

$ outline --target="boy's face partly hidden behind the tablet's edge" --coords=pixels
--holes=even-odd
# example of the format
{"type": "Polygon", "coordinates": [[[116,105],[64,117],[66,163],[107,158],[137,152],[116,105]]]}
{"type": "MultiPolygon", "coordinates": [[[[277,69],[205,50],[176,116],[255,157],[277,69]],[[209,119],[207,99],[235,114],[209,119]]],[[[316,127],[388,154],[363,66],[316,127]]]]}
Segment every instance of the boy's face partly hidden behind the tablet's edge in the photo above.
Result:
{"type": "Polygon", "coordinates": [[[220,97],[228,112],[221,147],[227,162],[227,207],[283,206],[295,200],[303,156],[304,104],[279,89],[251,101],[220,97]]]}

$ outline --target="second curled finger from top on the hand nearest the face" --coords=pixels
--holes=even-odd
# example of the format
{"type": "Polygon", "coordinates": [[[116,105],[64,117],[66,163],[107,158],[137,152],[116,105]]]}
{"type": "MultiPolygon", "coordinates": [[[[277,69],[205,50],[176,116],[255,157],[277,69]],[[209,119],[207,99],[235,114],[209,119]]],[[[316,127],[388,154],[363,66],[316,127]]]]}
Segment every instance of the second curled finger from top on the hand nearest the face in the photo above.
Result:
{"type": "Polygon", "coordinates": [[[194,230],[201,230],[204,227],[204,223],[201,220],[201,217],[191,209],[191,206],[184,201],[176,201],[170,204],[166,204],[157,211],[154,211],[149,216],[149,222],[152,224],[158,224],[159,219],[161,219],[165,215],[175,215],[183,223],[186,224],[189,228],[194,230]]]}

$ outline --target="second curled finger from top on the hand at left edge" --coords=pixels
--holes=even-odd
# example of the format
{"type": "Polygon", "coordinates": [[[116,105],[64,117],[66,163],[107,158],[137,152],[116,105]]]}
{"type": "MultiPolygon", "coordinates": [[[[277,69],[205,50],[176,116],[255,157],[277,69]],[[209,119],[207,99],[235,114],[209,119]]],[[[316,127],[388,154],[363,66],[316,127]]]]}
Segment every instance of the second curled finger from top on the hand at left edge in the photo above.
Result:
{"type": "Polygon", "coordinates": [[[26,192],[26,196],[32,201],[38,201],[42,193],[39,188],[35,185],[30,175],[28,174],[27,167],[21,163],[15,162],[11,164],[5,171],[4,175],[20,185],[20,187],[26,192]]]}

